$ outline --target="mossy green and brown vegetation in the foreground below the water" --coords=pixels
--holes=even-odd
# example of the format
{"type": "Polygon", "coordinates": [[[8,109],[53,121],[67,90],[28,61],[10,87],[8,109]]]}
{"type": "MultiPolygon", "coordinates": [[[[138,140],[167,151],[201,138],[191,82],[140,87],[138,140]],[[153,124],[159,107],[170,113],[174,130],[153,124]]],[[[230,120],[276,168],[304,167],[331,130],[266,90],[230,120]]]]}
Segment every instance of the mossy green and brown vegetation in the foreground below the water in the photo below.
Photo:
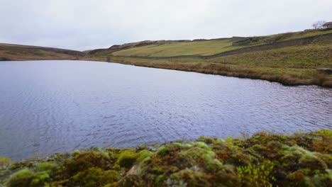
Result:
{"type": "Polygon", "coordinates": [[[332,186],[332,131],[92,148],[11,164],[0,186],[332,186]]]}

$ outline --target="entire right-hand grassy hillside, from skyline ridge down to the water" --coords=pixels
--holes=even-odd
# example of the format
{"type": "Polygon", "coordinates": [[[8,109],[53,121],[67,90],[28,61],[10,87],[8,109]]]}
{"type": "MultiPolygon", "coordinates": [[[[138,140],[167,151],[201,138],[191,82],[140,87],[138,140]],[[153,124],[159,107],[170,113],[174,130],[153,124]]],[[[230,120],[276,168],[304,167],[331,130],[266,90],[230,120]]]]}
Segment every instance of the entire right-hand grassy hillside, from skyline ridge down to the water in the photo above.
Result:
{"type": "Polygon", "coordinates": [[[332,87],[332,30],[212,40],[143,41],[93,50],[84,60],[332,87]]]}

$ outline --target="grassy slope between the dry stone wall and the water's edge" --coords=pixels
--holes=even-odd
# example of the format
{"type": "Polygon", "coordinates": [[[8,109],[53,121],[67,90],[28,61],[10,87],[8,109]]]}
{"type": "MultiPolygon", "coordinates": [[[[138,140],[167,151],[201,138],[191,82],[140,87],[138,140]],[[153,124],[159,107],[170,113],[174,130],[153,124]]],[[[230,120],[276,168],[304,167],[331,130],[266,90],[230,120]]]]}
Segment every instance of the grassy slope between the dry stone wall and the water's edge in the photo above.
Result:
{"type": "Polygon", "coordinates": [[[316,70],[319,67],[332,68],[332,42],[245,52],[209,60],[197,58],[151,60],[113,55],[87,56],[84,60],[263,79],[284,85],[332,87],[332,76],[316,70]]]}

